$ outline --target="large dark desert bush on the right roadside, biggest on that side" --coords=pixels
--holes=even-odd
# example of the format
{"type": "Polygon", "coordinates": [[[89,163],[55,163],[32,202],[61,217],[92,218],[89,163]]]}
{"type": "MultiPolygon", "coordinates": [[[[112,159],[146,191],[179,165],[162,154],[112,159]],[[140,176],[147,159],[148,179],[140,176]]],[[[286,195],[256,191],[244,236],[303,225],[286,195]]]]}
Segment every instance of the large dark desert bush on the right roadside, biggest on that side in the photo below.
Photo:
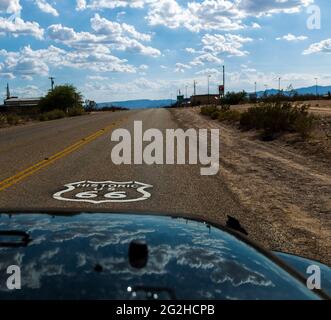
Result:
{"type": "Polygon", "coordinates": [[[282,132],[298,132],[306,138],[313,124],[314,117],[309,114],[307,106],[296,107],[288,102],[252,107],[240,118],[241,128],[262,129],[263,135],[271,138],[282,132]]]}

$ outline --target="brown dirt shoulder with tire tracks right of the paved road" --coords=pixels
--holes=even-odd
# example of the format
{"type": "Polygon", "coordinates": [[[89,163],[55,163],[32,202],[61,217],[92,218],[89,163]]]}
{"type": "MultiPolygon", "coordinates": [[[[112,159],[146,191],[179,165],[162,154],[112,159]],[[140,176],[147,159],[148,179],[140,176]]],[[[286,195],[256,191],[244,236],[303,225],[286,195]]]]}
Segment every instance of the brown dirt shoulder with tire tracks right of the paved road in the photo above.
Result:
{"type": "Polygon", "coordinates": [[[249,237],[331,265],[330,158],[283,139],[263,142],[199,111],[171,110],[183,128],[221,130],[219,178],[244,207],[237,218],[249,237]]]}

